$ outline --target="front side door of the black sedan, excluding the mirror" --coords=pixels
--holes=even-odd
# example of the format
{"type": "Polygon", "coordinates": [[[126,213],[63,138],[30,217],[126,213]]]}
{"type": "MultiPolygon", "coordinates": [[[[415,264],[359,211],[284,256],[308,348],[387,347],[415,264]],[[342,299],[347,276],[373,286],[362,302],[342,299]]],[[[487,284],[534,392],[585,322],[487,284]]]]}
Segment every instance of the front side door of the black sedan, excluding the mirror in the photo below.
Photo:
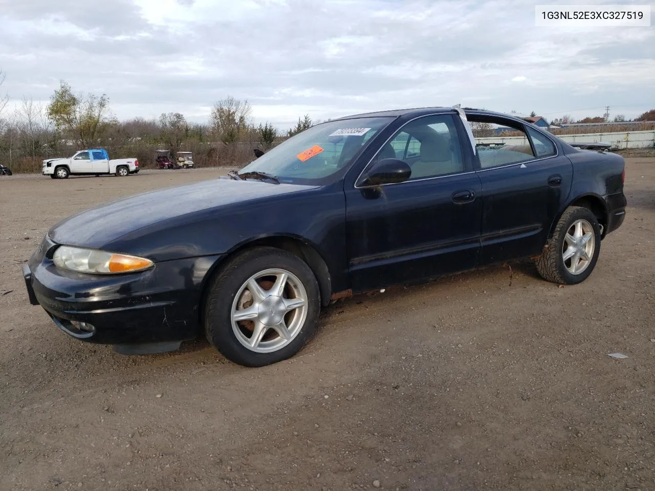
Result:
{"type": "MultiPolygon", "coordinates": [[[[476,266],[481,185],[469,160],[462,157],[466,149],[461,141],[451,114],[408,122],[371,164],[381,158],[405,160],[412,170],[410,179],[377,189],[357,185],[346,189],[348,261],[354,291],[426,280],[476,266]]],[[[364,176],[365,170],[356,184],[364,176]]]]}

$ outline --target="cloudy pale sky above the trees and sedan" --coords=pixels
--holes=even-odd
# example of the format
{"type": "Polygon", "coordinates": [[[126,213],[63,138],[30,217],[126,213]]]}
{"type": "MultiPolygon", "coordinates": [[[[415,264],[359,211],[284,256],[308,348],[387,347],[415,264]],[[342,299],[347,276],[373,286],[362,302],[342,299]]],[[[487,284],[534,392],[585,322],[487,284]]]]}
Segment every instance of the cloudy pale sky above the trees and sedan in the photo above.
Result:
{"type": "Polygon", "coordinates": [[[120,119],[196,122],[233,96],[280,128],[457,103],[548,120],[655,108],[655,27],[535,27],[537,3],[558,2],[0,0],[0,96],[47,103],[65,80],[120,119]]]}

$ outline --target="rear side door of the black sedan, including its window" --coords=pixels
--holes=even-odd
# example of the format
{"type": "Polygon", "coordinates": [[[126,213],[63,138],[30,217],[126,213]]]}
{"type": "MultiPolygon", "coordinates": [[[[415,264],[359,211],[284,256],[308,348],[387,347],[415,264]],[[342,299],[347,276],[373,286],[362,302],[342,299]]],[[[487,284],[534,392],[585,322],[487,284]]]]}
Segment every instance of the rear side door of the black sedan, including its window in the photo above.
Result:
{"type": "Polygon", "coordinates": [[[483,195],[479,264],[540,254],[571,190],[571,161],[529,124],[467,117],[476,136],[483,195]]]}

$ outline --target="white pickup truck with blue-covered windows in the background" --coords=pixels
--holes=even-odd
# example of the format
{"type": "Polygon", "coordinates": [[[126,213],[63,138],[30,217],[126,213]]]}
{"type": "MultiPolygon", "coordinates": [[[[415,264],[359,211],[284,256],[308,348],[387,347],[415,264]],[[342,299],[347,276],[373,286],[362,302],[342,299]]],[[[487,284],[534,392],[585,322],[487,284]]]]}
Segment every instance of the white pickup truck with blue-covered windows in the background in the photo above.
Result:
{"type": "Polygon", "coordinates": [[[119,176],[139,172],[136,158],[115,158],[109,160],[105,149],[82,150],[71,158],[48,158],[43,160],[43,175],[52,179],[66,179],[69,175],[115,174],[119,176]]]}

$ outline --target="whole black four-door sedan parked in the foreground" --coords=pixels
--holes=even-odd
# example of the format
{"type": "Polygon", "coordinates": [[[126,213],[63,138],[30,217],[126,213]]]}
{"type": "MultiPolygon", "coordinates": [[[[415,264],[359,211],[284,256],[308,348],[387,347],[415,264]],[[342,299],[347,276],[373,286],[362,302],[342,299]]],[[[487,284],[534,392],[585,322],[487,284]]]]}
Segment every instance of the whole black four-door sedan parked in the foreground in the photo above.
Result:
{"type": "Polygon", "coordinates": [[[313,126],[240,173],[65,219],[23,272],[31,303],[75,338],[147,354],[205,335],[261,366],[295,354],[320,308],[353,293],[519,257],[582,282],[624,219],[623,185],[622,157],[507,115],[369,113],[313,126]],[[493,126],[523,137],[474,134],[493,126]]]}

